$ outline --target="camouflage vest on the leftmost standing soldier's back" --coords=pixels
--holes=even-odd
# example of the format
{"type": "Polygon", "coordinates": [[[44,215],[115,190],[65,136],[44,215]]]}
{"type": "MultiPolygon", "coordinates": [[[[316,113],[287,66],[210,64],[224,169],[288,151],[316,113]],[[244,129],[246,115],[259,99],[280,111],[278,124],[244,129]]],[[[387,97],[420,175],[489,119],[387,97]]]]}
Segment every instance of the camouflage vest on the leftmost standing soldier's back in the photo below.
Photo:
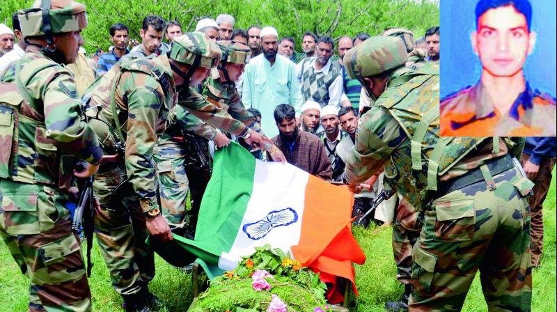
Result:
{"type": "MultiPolygon", "coordinates": [[[[58,65],[49,59],[15,61],[15,81],[0,82],[0,178],[70,187],[75,161],[49,139],[42,103],[25,86],[38,72],[58,65]]],[[[68,72],[70,75],[70,72],[68,72]]]]}

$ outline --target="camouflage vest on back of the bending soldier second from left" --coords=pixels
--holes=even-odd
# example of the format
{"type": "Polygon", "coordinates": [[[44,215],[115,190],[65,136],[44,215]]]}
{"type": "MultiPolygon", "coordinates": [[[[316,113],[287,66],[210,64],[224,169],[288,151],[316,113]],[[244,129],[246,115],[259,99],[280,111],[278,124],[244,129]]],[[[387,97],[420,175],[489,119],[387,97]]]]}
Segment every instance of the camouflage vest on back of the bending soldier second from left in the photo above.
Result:
{"type": "Polygon", "coordinates": [[[116,63],[103,77],[108,79],[108,84],[100,86],[102,77],[99,77],[91,85],[82,98],[86,107],[86,115],[89,117],[88,123],[95,130],[103,150],[110,154],[117,153],[116,143],[125,146],[126,133],[125,123],[127,121],[127,98],[123,98],[125,108],[116,105],[116,87],[120,83],[123,72],[142,72],[157,79],[164,91],[167,109],[170,111],[172,103],[168,103],[168,90],[171,88],[168,77],[161,68],[153,65],[149,60],[157,57],[148,56],[144,59],[132,58],[123,63],[116,63]]]}

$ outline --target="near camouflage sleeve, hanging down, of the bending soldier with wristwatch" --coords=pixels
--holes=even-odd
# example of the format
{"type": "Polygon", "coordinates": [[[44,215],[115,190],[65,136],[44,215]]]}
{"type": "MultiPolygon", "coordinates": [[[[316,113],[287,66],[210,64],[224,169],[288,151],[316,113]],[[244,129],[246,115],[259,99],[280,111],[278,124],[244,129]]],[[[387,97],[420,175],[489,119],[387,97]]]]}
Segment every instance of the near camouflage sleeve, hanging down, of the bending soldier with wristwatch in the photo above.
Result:
{"type": "Polygon", "coordinates": [[[157,142],[155,125],[164,97],[157,92],[157,81],[146,75],[123,76],[120,81],[118,93],[128,99],[126,173],[139,196],[141,210],[147,212],[158,205],[152,152],[157,142]]]}

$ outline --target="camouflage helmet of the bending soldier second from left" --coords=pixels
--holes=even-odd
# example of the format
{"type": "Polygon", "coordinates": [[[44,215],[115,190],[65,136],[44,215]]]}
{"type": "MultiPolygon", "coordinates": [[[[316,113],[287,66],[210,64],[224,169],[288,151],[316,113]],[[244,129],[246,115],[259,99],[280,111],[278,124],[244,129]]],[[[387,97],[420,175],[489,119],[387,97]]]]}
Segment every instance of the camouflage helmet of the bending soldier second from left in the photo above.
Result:
{"type": "Polygon", "coordinates": [[[173,38],[170,58],[174,61],[196,67],[214,68],[221,56],[221,49],[217,43],[204,33],[185,33],[173,38]]]}

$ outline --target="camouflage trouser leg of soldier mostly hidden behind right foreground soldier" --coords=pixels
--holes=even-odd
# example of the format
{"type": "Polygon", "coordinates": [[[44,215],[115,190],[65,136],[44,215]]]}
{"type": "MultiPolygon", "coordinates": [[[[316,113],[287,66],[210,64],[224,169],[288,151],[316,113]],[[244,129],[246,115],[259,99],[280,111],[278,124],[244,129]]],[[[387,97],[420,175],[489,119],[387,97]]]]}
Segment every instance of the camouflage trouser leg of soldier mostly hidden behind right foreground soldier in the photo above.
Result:
{"type": "Polygon", "coordinates": [[[414,206],[400,196],[393,222],[393,256],[396,263],[396,279],[405,285],[412,283],[412,247],[420,237],[423,226],[418,215],[419,212],[414,206]]]}

